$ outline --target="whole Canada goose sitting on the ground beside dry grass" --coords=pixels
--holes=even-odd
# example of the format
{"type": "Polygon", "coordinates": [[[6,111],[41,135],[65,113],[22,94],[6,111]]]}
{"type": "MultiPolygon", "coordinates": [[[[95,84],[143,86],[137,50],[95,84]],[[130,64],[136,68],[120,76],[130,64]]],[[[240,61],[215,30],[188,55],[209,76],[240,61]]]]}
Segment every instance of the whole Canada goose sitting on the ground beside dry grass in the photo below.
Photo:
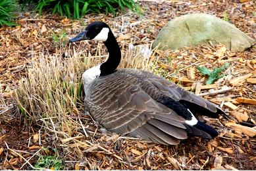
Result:
{"type": "Polygon", "coordinates": [[[217,105],[153,73],[116,69],[121,52],[107,24],[91,23],[70,43],[83,40],[103,41],[109,51],[106,62],[88,69],[82,76],[86,107],[104,128],[166,145],[176,145],[188,136],[218,136],[214,128],[193,115],[225,117],[217,105]]]}

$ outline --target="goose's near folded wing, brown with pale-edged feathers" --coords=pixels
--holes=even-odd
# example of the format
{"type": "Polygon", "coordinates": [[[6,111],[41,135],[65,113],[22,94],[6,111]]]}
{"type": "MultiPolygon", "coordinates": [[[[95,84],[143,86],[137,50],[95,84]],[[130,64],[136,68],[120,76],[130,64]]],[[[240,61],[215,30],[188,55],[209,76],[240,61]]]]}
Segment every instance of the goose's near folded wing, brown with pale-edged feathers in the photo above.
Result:
{"type": "Polygon", "coordinates": [[[93,119],[112,132],[163,144],[187,138],[184,119],[153,100],[128,72],[95,79],[87,87],[85,101],[93,119]]]}

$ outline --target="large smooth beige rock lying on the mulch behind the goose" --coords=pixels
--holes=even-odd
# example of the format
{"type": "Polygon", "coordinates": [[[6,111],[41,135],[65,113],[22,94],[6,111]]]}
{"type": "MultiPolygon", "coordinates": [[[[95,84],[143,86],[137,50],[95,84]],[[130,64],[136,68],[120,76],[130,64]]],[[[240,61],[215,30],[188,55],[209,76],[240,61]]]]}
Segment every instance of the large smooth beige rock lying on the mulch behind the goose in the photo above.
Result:
{"type": "Polygon", "coordinates": [[[251,47],[254,40],[234,25],[209,14],[187,14],[170,20],[161,29],[153,47],[176,49],[215,41],[233,52],[251,47]],[[160,44],[159,44],[160,43],[160,44]]]}

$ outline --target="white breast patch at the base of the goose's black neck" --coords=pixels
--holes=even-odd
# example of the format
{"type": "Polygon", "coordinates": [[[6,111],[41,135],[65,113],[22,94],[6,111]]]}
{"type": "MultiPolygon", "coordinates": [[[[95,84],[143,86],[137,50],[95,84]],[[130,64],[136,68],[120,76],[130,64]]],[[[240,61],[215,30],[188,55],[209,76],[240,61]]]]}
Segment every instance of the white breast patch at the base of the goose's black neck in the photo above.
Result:
{"type": "Polygon", "coordinates": [[[83,81],[84,87],[86,87],[86,85],[91,83],[91,81],[93,81],[93,79],[99,77],[99,75],[101,74],[101,69],[99,69],[100,66],[101,65],[95,66],[95,67],[91,67],[90,69],[87,69],[83,73],[82,81],[83,81]]]}

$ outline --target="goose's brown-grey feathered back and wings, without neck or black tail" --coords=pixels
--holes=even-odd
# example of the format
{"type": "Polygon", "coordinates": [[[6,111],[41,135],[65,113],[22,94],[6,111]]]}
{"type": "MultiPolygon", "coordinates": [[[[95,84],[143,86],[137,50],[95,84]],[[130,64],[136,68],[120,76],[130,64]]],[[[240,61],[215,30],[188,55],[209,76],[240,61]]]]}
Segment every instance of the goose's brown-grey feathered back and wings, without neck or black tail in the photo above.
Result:
{"type": "MultiPolygon", "coordinates": [[[[91,117],[111,132],[136,136],[154,143],[178,144],[195,135],[209,134],[190,129],[185,119],[159,102],[163,96],[190,102],[212,113],[218,107],[207,100],[166,81],[163,77],[138,69],[118,69],[97,77],[85,87],[85,104],[91,117]]],[[[211,138],[211,136],[210,136],[211,138]]]]}

